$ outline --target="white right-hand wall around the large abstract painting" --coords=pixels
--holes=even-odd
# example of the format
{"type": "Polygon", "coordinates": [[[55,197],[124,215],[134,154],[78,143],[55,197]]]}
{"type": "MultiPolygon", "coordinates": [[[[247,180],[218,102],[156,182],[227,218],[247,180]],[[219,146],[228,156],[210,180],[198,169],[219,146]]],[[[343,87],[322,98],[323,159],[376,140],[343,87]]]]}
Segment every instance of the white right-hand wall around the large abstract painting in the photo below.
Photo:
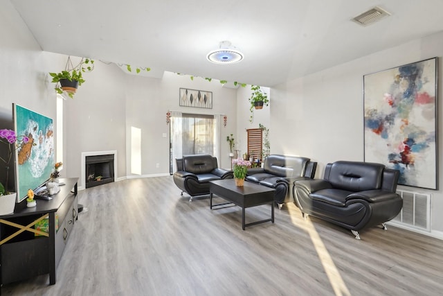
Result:
{"type": "MultiPolygon", "coordinates": [[[[440,57],[438,66],[442,69],[442,55],[443,33],[437,33],[273,87],[272,152],[314,159],[318,162],[316,177],[323,177],[328,162],[363,161],[363,75],[433,57],[440,57]]],[[[438,97],[442,98],[442,76],[438,80],[438,97]]],[[[438,105],[438,114],[442,116],[442,104],[438,105]]],[[[441,151],[441,123],[437,132],[441,151]]],[[[442,164],[440,157],[440,190],[399,186],[433,195],[432,235],[440,238],[443,238],[442,164]]]]}

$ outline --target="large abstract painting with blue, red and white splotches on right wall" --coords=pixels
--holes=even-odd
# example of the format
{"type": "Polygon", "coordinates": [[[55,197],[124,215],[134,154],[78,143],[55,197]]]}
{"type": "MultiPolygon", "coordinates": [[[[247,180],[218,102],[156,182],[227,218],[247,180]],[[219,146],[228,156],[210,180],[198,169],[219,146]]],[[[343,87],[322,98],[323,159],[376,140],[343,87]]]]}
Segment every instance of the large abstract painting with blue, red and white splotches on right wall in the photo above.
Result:
{"type": "Polygon", "coordinates": [[[437,189],[437,58],[363,76],[365,162],[437,189]]]}

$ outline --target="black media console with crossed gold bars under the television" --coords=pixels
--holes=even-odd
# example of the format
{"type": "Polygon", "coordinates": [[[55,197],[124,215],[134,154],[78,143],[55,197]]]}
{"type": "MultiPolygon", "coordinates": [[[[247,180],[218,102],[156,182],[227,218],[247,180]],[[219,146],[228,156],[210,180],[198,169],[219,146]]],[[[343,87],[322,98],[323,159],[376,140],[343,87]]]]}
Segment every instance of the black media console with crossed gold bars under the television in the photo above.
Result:
{"type": "Polygon", "coordinates": [[[57,265],[78,219],[78,178],[60,181],[66,185],[51,200],[37,200],[33,208],[22,202],[14,214],[0,216],[0,284],[45,274],[55,284],[57,265]]]}

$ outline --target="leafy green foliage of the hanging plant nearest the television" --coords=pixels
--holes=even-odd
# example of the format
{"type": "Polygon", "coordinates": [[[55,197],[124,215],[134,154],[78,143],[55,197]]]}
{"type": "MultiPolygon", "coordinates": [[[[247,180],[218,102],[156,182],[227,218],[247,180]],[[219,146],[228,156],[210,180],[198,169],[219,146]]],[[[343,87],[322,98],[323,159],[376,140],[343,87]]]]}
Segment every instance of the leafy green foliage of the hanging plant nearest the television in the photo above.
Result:
{"type": "MultiPolygon", "coordinates": [[[[77,81],[78,86],[84,83],[83,74],[84,72],[91,72],[94,69],[94,60],[89,58],[82,58],[77,66],[73,67],[71,62],[71,57],[68,57],[68,61],[66,62],[66,67],[64,71],[60,71],[58,73],[50,72],[49,75],[53,78],[51,82],[56,83],[55,91],[57,94],[63,94],[62,86],[60,85],[60,80],[66,79],[71,82],[77,81]]],[[[74,98],[75,92],[67,92],[70,98],[74,98]]]]}

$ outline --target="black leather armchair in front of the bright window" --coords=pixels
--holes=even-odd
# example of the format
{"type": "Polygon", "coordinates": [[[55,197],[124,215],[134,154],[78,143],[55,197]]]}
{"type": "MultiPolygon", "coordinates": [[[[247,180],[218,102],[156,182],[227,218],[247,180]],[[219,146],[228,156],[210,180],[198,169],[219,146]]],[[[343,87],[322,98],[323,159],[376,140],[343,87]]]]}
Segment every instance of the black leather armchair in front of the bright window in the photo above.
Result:
{"type": "Polygon", "coordinates": [[[183,192],[190,195],[190,202],[194,196],[209,194],[209,181],[233,178],[233,171],[218,168],[217,157],[212,155],[183,155],[176,163],[174,183],[181,189],[181,195],[183,192]]]}

